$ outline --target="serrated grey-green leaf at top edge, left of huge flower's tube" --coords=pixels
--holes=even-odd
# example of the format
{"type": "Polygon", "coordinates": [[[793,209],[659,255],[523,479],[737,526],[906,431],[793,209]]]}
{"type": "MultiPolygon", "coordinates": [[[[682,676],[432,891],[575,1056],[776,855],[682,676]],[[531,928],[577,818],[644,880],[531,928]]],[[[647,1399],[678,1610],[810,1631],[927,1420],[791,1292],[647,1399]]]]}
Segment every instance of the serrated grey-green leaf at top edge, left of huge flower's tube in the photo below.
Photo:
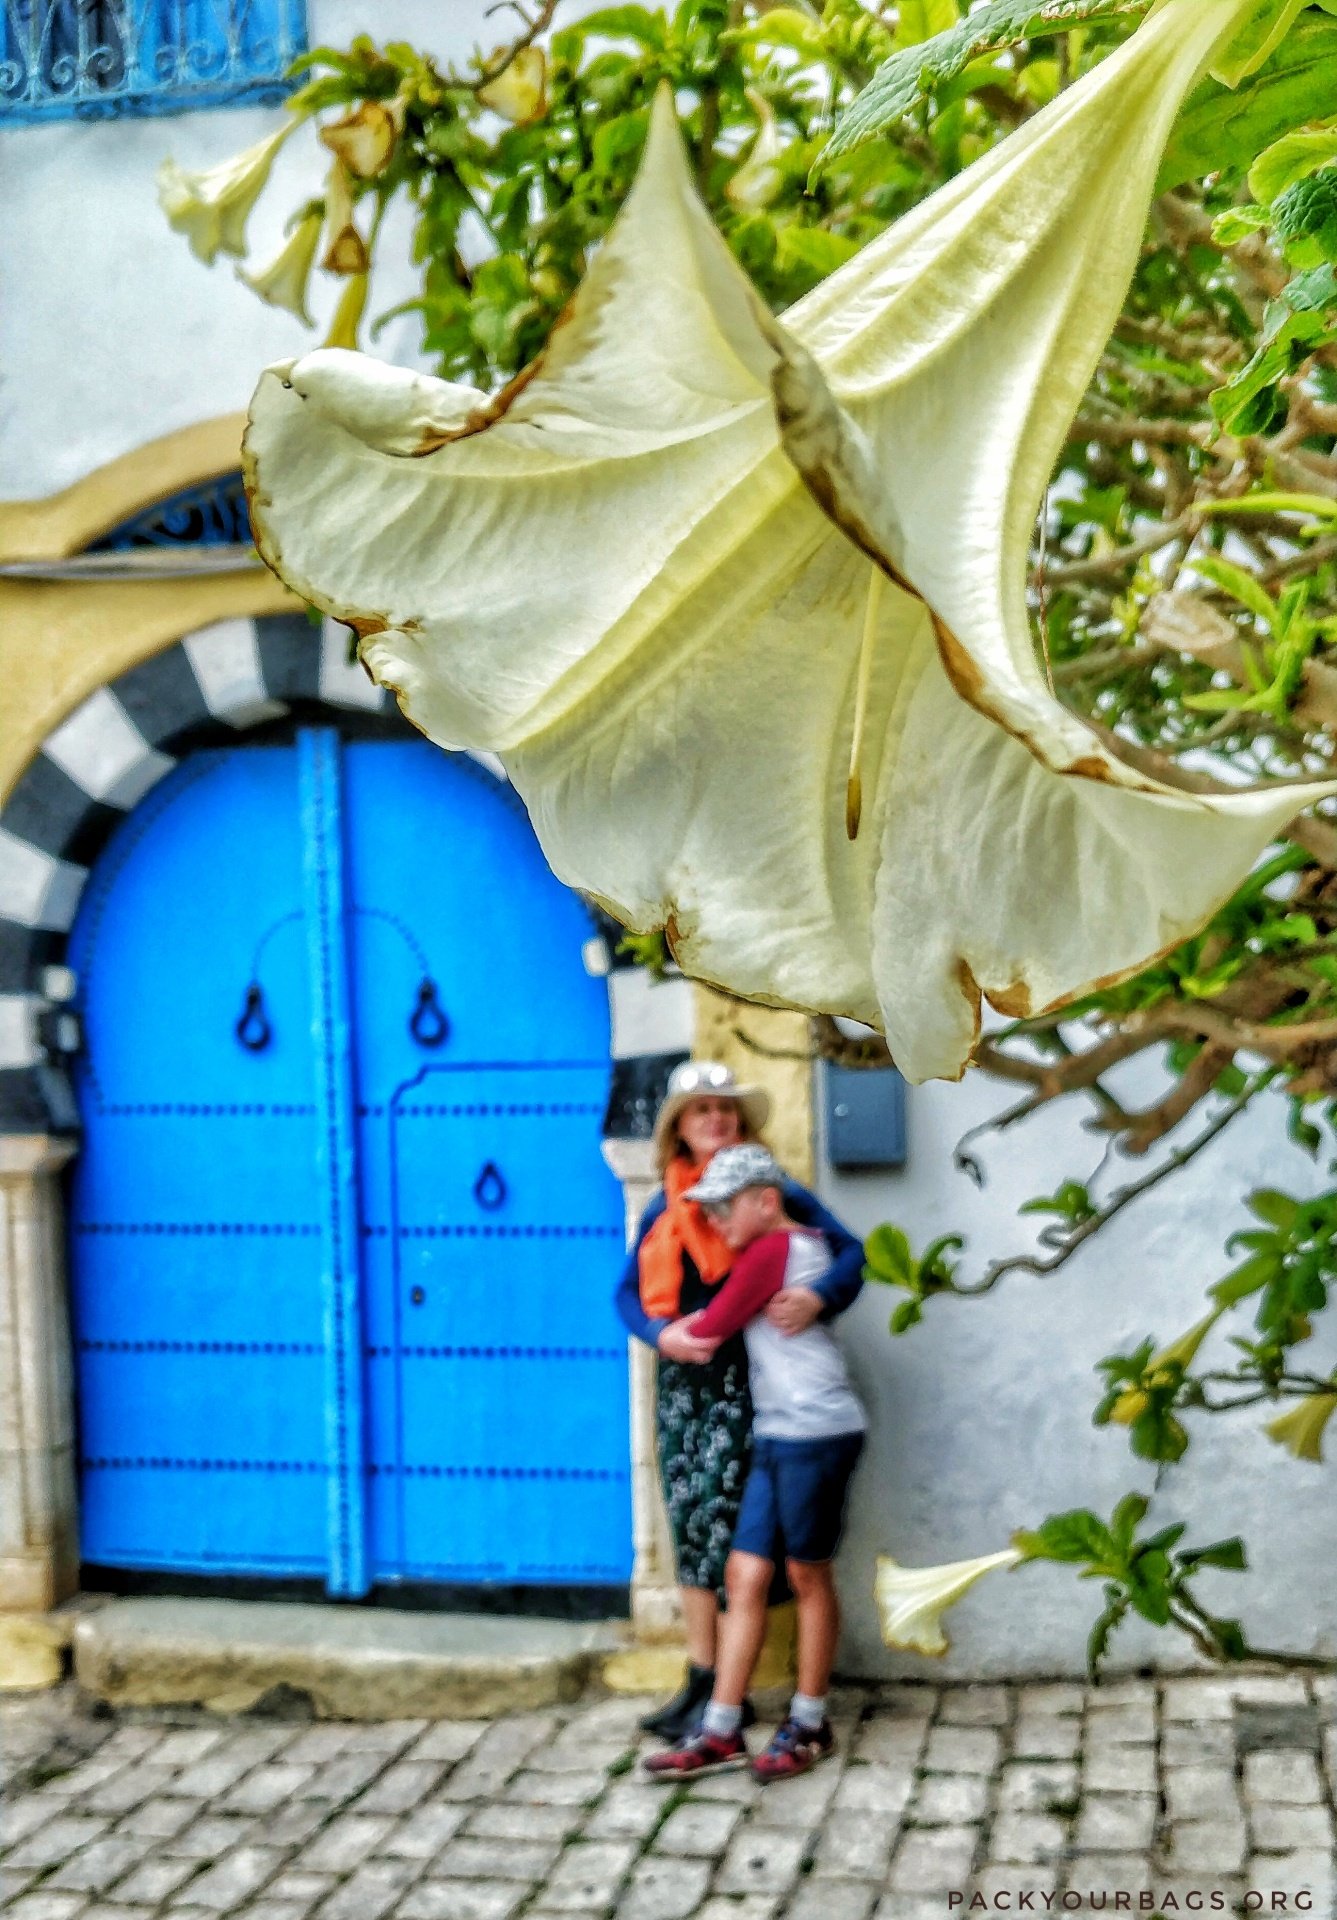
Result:
{"type": "Polygon", "coordinates": [[[1128,19],[1145,13],[1149,0],[989,0],[974,8],[949,33],[918,46],[905,46],[886,60],[864,90],[845,108],[836,132],[818,159],[826,167],[838,154],[849,154],[863,140],[886,132],[909,109],[980,60],[1018,40],[1037,40],[1066,33],[1089,21],[1128,19]]]}

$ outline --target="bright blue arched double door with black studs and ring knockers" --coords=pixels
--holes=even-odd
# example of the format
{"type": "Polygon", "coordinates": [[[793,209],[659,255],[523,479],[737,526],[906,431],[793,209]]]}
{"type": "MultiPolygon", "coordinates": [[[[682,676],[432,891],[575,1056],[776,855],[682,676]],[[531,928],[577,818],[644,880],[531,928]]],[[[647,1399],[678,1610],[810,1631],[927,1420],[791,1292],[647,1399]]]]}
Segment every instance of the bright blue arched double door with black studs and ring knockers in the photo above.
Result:
{"type": "Polygon", "coordinates": [[[71,935],[85,1561],[626,1582],[588,935],[417,741],[202,753],[119,829],[71,935]]]}

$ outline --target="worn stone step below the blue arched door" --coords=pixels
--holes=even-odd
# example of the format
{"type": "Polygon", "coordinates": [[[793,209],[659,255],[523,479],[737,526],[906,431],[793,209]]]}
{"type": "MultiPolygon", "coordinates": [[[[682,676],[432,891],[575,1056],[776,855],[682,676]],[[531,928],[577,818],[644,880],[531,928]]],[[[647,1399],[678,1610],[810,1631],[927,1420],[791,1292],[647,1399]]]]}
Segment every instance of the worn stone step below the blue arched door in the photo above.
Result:
{"type": "Polygon", "coordinates": [[[480,1720],[576,1699],[626,1642],[624,1620],[136,1597],[79,1620],[73,1651],[79,1684],[113,1707],[305,1695],[328,1720],[480,1720]]]}

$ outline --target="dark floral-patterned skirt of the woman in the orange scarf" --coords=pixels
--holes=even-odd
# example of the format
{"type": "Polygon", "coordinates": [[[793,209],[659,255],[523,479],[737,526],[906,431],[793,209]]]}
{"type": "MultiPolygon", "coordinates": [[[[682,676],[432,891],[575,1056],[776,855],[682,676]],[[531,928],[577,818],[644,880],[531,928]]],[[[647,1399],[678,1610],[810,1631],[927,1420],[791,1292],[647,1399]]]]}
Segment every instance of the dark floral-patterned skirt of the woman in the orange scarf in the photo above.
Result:
{"type": "Polygon", "coordinates": [[[705,1367],[659,1361],[659,1475],[678,1584],[724,1594],[724,1561],[751,1461],[747,1354],[730,1340],[705,1367]]]}

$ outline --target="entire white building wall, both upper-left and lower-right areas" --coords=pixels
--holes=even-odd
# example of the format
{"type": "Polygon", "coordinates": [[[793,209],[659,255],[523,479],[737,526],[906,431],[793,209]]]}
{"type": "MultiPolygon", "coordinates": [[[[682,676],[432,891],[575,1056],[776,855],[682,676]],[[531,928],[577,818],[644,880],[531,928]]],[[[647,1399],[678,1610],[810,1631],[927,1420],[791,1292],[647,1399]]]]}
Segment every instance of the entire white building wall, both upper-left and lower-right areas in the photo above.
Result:
{"type": "MultiPolygon", "coordinates": [[[[567,13],[590,0],[567,0],[567,13]]],[[[438,56],[492,40],[482,0],[311,0],[311,42],[373,27],[438,56]]],[[[279,123],[273,111],[188,113],[165,121],[60,121],[0,131],[4,276],[0,280],[0,497],[61,488],[104,461],[194,420],[244,407],[265,363],[313,342],[294,319],[238,286],[231,263],[202,267],[158,213],[163,154],[213,165],[279,123]]],[[[282,215],[321,177],[321,150],[298,134],[254,217],[263,257],[282,215]]],[[[401,280],[382,275],[378,305],[411,290],[407,221],[401,280]]],[[[386,250],[388,252],[388,250],[386,250]]],[[[332,305],[334,292],[325,294],[332,305]]],[[[392,323],[378,344],[411,361],[417,323],[392,323]]],[[[911,1160],[895,1175],[826,1175],[832,1206],[866,1231],[897,1219],[922,1246],[947,1229],[972,1235],[972,1258],[1018,1244],[1018,1200],[1051,1190],[1093,1160],[1076,1110],[985,1146],[989,1187],[951,1169],[957,1137],[1010,1091],[987,1081],[911,1094],[911,1160]]],[[[1201,1311],[1203,1284],[1224,1269],[1224,1235],[1243,1225],[1235,1196],[1251,1183],[1312,1190],[1322,1175],[1287,1148],[1279,1116],[1241,1121],[1183,1179],[1120,1219],[1049,1281],[1014,1275],[980,1302],[937,1302],[907,1338],[886,1332],[893,1298],[868,1290],[847,1323],[849,1352],[874,1417],[843,1557],[843,1665],[922,1672],[891,1659],[872,1613],[874,1551],[907,1563],[984,1553],[1010,1528],[1068,1505],[1108,1511],[1153,1471],[1122,1432],[1097,1432],[1091,1363],[1143,1331],[1170,1336],[1201,1311]]],[[[1218,1336],[1224,1346],[1224,1336],[1218,1336]]],[[[1195,1540],[1241,1528],[1256,1572],[1203,1582],[1222,1611],[1241,1613],[1262,1642],[1331,1645],[1337,1509],[1322,1469],[1297,1465],[1258,1432],[1260,1417],[1195,1423],[1187,1465],[1168,1478],[1156,1513],[1183,1517],[1195,1540]]],[[[995,1576],[953,1615],[949,1672],[1070,1672],[1082,1663],[1093,1586],[1062,1569],[995,1576]]],[[[1168,1636],[1126,1630],[1120,1661],[1166,1657],[1168,1636]]]]}

